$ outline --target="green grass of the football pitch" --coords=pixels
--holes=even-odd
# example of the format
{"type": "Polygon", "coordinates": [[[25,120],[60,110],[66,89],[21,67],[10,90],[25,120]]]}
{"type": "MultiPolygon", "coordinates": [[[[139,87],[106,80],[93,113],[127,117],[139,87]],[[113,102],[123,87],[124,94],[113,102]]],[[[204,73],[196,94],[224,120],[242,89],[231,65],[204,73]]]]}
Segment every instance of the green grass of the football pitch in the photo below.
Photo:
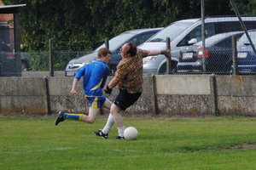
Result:
{"type": "Polygon", "coordinates": [[[137,127],[137,140],[108,139],[91,132],[93,124],[54,118],[0,117],[0,169],[255,169],[256,119],[125,119],[137,127]]]}

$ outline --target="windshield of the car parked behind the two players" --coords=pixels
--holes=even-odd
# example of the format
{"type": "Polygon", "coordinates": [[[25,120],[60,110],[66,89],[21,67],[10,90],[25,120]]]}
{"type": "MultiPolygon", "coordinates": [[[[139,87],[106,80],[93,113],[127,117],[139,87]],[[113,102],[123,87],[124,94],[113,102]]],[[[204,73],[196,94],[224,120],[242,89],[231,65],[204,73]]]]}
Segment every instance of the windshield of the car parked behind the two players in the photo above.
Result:
{"type": "MultiPolygon", "coordinates": [[[[111,51],[119,50],[119,47],[122,46],[128,40],[130,40],[131,37],[134,37],[134,34],[123,33],[123,34],[120,34],[117,37],[113,37],[108,42],[109,43],[109,49],[111,51]]],[[[105,43],[103,43],[100,47],[96,48],[96,51],[98,51],[100,48],[105,48],[105,43]]]]}

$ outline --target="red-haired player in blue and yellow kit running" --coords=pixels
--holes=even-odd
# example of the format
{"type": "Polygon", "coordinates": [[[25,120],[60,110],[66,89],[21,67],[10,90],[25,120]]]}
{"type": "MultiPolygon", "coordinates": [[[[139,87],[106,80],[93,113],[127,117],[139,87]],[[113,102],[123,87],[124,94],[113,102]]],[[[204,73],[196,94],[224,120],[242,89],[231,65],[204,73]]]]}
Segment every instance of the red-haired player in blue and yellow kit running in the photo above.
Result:
{"type": "Polygon", "coordinates": [[[55,118],[55,125],[58,125],[59,122],[63,122],[66,119],[93,123],[102,106],[110,110],[112,102],[102,93],[102,88],[104,88],[109,73],[107,64],[110,59],[111,51],[108,48],[101,48],[98,51],[96,61],[81,68],[73,79],[73,87],[70,93],[77,95],[76,86],[80,78],[84,77],[83,88],[85,97],[89,101],[89,114],[73,114],[60,111],[55,118]]]}

